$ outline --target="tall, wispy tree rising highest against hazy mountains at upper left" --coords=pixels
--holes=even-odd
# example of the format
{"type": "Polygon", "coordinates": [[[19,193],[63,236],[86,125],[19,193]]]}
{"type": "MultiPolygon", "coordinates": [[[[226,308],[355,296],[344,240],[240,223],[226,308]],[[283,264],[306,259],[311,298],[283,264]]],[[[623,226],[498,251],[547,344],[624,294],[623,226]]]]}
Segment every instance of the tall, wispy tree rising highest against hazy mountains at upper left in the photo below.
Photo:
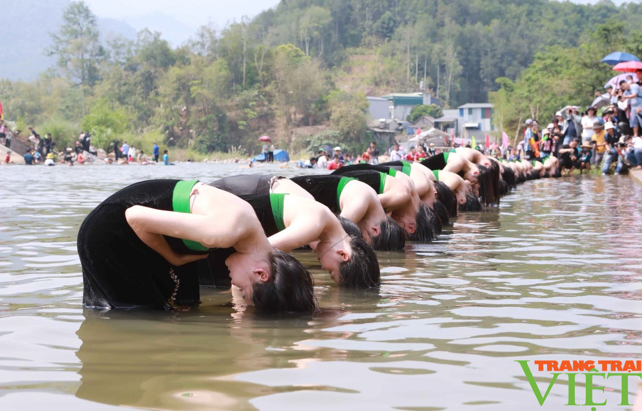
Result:
{"type": "Polygon", "coordinates": [[[49,33],[53,46],[46,54],[58,56],[58,67],[78,85],[92,87],[100,80],[98,63],[105,49],[98,42],[96,16],[83,1],[74,1],[62,15],[60,31],[49,33]]]}

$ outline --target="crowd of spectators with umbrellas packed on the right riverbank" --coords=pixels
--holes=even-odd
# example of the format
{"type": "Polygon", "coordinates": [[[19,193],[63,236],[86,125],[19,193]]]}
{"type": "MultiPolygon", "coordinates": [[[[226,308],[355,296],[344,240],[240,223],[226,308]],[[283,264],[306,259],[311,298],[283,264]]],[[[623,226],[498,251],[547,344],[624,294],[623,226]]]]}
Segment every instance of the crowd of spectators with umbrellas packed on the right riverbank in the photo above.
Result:
{"type": "Polygon", "coordinates": [[[620,174],[642,169],[642,70],[605,92],[596,92],[593,105],[559,110],[545,127],[527,119],[517,147],[502,153],[507,160],[534,160],[556,156],[562,172],[591,171],[620,174]]]}

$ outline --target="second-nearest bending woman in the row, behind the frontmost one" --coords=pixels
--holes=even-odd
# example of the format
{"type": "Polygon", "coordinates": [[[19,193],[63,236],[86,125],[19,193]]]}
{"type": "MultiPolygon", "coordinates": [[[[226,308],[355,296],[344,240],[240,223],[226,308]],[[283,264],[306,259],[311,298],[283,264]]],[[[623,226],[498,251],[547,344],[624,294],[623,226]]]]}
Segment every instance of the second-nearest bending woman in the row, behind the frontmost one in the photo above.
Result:
{"type": "Polygon", "coordinates": [[[268,177],[232,176],[211,185],[241,193],[239,197],[252,205],[268,240],[277,249],[289,252],[309,245],[334,282],[345,287],[379,287],[377,255],[354,222],[337,217],[292,181],[268,177]],[[267,194],[242,194],[248,192],[267,194]]]}

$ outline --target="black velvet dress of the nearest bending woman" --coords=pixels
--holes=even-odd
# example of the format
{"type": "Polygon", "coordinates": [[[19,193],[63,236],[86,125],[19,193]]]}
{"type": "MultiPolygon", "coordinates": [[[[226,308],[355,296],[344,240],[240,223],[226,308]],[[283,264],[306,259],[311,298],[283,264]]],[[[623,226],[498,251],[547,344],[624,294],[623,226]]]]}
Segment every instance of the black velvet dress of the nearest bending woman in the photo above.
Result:
{"type": "MultiPolygon", "coordinates": [[[[169,271],[180,281],[175,303],[199,302],[195,265],[172,267],[143,243],[125,219],[125,210],[141,205],[172,211],[172,197],[180,180],[150,180],[125,187],[87,215],[78,231],[78,255],[83,273],[83,305],[91,308],[152,307],[169,309],[175,289],[169,271]]],[[[200,254],[182,240],[165,237],[177,253],[200,254]]]]}

